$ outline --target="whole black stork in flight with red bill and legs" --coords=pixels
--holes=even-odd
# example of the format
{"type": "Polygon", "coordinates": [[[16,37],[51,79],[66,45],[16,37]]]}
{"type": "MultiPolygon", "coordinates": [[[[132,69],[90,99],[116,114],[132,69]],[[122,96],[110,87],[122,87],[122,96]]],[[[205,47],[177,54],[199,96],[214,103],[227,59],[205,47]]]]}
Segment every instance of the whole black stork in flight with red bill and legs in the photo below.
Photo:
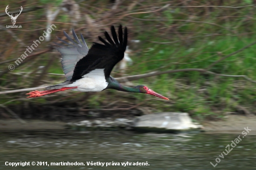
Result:
{"type": "Polygon", "coordinates": [[[110,38],[108,32],[105,31],[104,40],[100,36],[99,40],[104,44],[95,43],[88,49],[85,40],[81,34],[81,40],[77,38],[74,30],[72,30],[74,39],[71,39],[64,31],[67,39],[73,44],[58,38],[68,46],[63,46],[56,49],[61,52],[62,60],[61,65],[63,72],[65,73],[66,81],[58,85],[52,85],[46,87],[46,91],[33,91],[27,93],[27,98],[36,98],[44,96],[54,92],[60,92],[65,90],[73,90],[80,92],[100,92],[106,89],[115,89],[122,92],[139,92],[146,93],[158,98],[168,100],[168,98],[150,90],[147,86],[137,85],[135,87],[126,87],[121,85],[110,76],[113,67],[124,58],[124,52],[127,46],[127,28],[119,26],[118,36],[115,32],[115,27],[111,26],[112,38],[110,38]]]}

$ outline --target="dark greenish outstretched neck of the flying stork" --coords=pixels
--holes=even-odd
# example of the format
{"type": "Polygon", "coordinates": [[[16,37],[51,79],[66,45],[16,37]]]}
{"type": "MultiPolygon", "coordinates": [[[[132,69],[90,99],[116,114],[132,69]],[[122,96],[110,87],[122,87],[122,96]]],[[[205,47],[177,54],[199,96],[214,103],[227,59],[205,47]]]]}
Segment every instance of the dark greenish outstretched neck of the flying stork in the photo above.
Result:
{"type": "Polygon", "coordinates": [[[118,83],[118,81],[115,80],[115,78],[112,78],[112,77],[108,78],[107,82],[108,82],[108,87],[106,89],[115,89],[122,92],[135,92],[135,93],[140,92],[140,89],[138,88],[121,85],[120,83],[118,83]]]}

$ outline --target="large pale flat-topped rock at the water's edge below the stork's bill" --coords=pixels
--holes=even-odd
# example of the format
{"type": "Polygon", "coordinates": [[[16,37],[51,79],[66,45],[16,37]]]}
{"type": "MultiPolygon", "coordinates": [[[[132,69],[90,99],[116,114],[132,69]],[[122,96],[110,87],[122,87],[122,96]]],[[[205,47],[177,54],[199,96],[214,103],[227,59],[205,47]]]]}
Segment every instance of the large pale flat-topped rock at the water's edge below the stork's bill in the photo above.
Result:
{"type": "Polygon", "coordinates": [[[134,127],[138,131],[178,132],[202,126],[192,123],[188,113],[162,112],[138,117],[134,127]]]}

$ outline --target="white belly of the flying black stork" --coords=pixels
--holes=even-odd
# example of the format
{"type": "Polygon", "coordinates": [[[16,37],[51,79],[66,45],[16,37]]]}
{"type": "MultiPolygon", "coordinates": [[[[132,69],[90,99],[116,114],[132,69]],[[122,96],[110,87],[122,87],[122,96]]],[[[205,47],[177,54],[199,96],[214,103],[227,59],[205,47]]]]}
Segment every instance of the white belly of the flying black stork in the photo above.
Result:
{"type": "Polygon", "coordinates": [[[72,90],[80,92],[101,92],[107,86],[108,83],[105,79],[104,69],[95,69],[68,85],[68,87],[77,87],[72,90]]]}

